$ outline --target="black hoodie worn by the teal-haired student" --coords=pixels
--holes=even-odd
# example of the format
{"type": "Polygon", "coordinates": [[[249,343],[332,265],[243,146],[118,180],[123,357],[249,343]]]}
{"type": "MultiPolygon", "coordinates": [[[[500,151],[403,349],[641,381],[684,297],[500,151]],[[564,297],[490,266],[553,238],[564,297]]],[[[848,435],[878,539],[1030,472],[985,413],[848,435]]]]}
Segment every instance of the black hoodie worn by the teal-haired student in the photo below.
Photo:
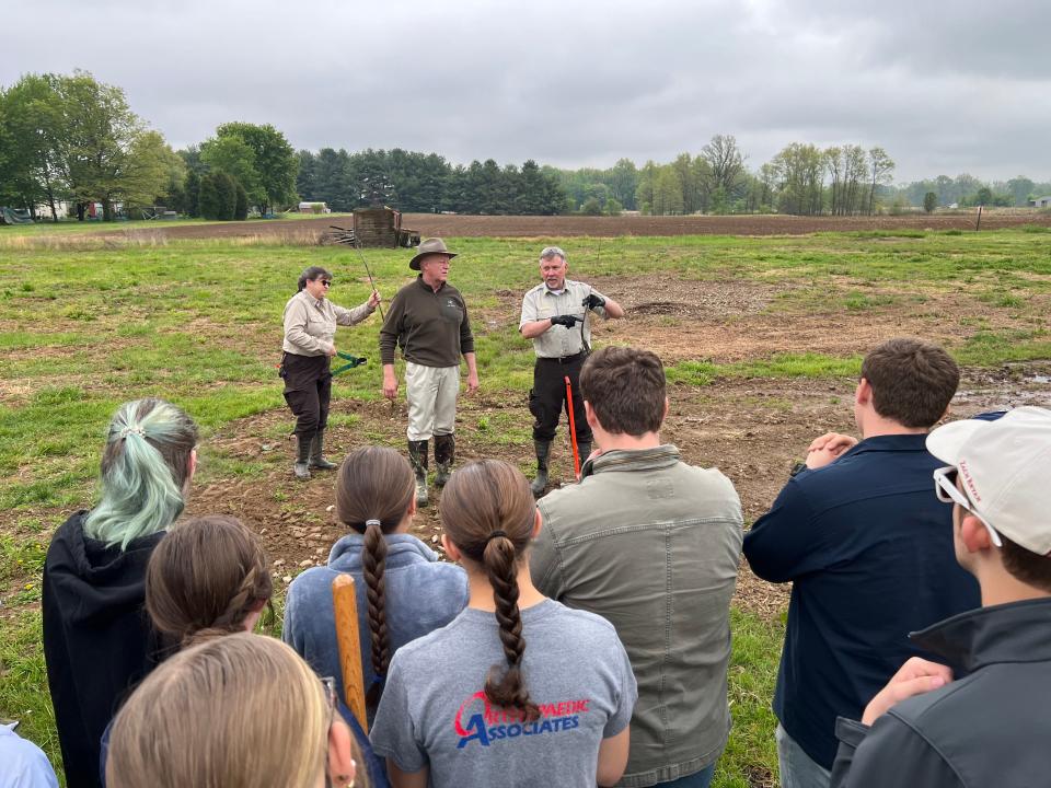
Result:
{"type": "Polygon", "coordinates": [[[159,654],[143,603],[164,532],[106,547],[84,536],[86,514],[59,526],[44,563],[44,658],[69,788],[100,785],[102,732],[159,654]]]}

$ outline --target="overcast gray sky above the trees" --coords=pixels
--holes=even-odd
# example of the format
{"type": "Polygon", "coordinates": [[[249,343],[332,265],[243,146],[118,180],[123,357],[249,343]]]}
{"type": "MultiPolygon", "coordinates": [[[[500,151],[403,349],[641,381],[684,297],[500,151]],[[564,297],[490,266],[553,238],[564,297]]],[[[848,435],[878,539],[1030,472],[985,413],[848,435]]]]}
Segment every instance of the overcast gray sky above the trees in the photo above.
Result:
{"type": "Polygon", "coordinates": [[[76,68],[175,148],[228,120],[296,148],[458,163],[667,162],[735,135],[881,146],[896,181],[1051,181],[1048,0],[18,0],[0,84],[76,68]]]}

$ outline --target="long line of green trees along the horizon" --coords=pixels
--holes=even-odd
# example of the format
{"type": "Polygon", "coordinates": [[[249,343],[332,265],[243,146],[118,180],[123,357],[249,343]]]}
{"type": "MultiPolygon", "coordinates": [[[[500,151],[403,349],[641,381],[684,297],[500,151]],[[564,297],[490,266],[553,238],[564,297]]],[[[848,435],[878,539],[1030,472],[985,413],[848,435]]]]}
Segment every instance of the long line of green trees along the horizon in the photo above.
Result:
{"type": "Polygon", "coordinates": [[[173,151],[128,106],[124,91],[90,73],[27,74],[0,89],[0,205],[38,206],[57,220],[69,201],[83,219],[102,204],[137,212],[163,205],[188,216],[243,219],[300,196],[336,211],[390,205],[404,211],[488,215],[782,212],[853,216],[908,206],[1021,206],[1051,183],[1018,176],[983,183],[939,175],[892,186],[894,162],[880,147],[785,146],[755,170],[732,135],[698,153],[642,166],[621,159],[602,170],[535,161],[453,164],[437,153],[322,148],[294,151],[270,125],[227,123],[212,137],[173,151]],[[932,196],[933,195],[933,196],[932,196]]]}

